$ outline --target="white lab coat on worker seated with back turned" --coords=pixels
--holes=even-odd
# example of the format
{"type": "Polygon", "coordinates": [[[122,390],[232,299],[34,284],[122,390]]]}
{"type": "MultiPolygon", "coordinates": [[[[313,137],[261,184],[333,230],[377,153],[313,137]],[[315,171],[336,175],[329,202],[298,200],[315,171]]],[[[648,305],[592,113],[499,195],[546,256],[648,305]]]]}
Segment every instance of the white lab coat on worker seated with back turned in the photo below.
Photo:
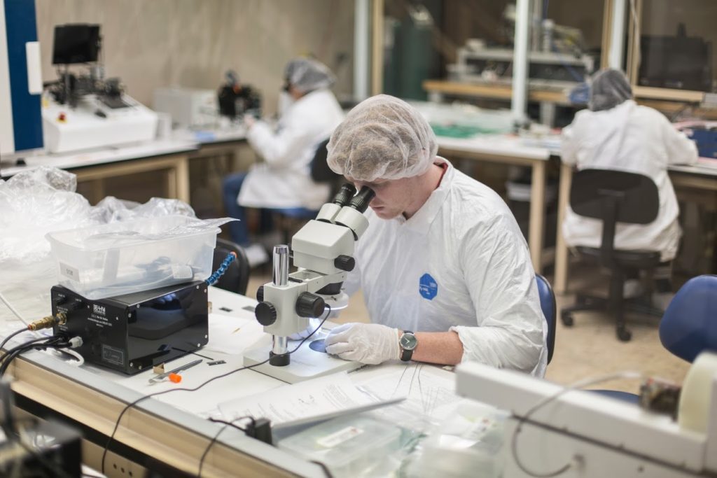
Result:
{"type": "MultiPolygon", "coordinates": [[[[562,161],[578,169],[614,169],[652,178],[660,194],[657,219],[650,224],[618,224],[616,249],[660,251],[668,261],[677,254],[682,231],[668,165],[693,164],[697,147],[664,115],[632,100],[610,110],[582,110],[563,129],[562,161]]],[[[569,246],[600,247],[602,221],[566,211],[563,236],[569,246]]]]}

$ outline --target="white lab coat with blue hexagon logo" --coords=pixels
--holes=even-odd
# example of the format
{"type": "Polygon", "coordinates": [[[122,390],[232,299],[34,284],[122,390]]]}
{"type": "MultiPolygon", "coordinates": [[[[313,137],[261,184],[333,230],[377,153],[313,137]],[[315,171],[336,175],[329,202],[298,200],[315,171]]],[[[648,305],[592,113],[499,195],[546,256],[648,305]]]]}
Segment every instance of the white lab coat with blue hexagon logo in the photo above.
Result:
{"type": "Polygon", "coordinates": [[[547,327],[535,272],[498,194],[447,163],[440,186],[411,219],[384,220],[371,209],[366,216],[344,288],[361,287],[371,322],[455,330],[462,360],[544,375],[547,327]]]}

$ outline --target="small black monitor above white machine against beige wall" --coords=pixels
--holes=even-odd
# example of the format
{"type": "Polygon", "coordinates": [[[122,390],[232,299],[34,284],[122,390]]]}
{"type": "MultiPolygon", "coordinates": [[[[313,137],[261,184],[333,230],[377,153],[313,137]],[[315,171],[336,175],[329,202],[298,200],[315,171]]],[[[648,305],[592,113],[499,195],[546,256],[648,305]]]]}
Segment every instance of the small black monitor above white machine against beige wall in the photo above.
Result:
{"type": "Polygon", "coordinates": [[[67,24],[54,27],[52,64],[96,62],[100,52],[100,25],[67,24]]]}

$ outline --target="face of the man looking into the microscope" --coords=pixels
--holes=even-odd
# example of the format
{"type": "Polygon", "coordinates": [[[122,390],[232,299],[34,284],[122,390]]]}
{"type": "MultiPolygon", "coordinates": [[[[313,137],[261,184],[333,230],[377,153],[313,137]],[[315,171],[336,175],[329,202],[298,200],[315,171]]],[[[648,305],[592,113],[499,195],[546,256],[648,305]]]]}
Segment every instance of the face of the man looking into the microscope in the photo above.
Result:
{"type": "Polygon", "coordinates": [[[369,186],[374,190],[376,196],[371,199],[369,207],[374,210],[376,216],[381,219],[393,219],[401,214],[407,213],[412,216],[420,206],[416,207],[416,183],[417,178],[401,179],[376,179],[370,183],[354,181],[346,176],[346,179],[361,190],[363,186],[369,186]]]}

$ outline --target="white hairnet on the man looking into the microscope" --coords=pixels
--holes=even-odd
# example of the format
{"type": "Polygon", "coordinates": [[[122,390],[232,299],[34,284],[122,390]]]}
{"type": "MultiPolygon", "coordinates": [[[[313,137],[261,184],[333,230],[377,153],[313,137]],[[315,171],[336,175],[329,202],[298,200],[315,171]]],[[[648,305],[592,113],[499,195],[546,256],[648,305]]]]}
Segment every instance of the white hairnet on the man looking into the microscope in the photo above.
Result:
{"type": "Polygon", "coordinates": [[[436,136],[414,107],[389,95],[364,100],[331,135],[328,166],[357,181],[418,176],[436,156],[436,136]]]}

